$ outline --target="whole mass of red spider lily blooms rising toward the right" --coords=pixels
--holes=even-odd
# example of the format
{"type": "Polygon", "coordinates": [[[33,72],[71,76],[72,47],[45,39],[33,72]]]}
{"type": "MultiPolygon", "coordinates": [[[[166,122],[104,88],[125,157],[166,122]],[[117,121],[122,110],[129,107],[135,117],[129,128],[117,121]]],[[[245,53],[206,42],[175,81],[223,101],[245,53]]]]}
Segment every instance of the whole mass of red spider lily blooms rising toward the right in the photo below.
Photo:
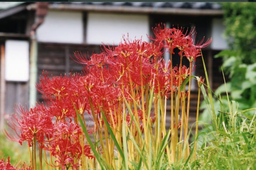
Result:
{"type": "MultiPolygon", "coordinates": [[[[131,103],[138,104],[147,110],[148,100],[140,104],[144,94],[148,98],[149,91],[154,90],[159,96],[169,98],[191,72],[186,66],[180,69],[171,62],[166,64],[163,53],[167,50],[174,54],[177,48],[181,58],[193,62],[201,55],[201,48],[211,42],[210,39],[206,43],[203,40],[195,43],[193,29],[184,33],[182,28],[165,28],[159,24],[153,31],[155,36],[149,37],[151,42],[127,37],[116,47],[103,44],[103,52],[90,57],[74,52],[75,60],[84,65],[81,74],[49,77],[43,72],[36,86],[45,105],[37,104],[30,110],[20,107],[20,113],[14,114],[8,122],[16,137],[6,132],[8,138],[20,144],[27,141],[29,146],[38,144],[56,158],[54,166],[63,169],[79,168],[82,157],[94,159],[90,146],[82,140],[84,132],[78,124],[76,109],[84,123],[84,114],[90,115],[94,122],[89,130],[92,134],[102,133],[105,124],[102,112],[111,127],[120,127],[124,123],[123,116],[127,124],[134,126],[128,111],[123,114],[124,99],[131,106],[131,103]]],[[[143,131],[143,110],[134,107],[133,114],[143,131]]],[[[151,111],[150,121],[155,122],[154,111],[151,111]]],[[[180,124],[181,121],[178,128],[180,124]]]]}

